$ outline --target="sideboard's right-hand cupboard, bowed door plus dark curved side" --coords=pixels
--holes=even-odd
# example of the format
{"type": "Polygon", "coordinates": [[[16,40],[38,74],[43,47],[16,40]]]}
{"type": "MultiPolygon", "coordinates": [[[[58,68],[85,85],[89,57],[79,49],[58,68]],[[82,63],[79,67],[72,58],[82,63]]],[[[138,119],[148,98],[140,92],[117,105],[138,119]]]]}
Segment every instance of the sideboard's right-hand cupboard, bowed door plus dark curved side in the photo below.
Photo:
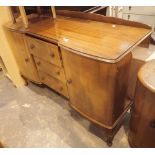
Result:
{"type": "Polygon", "coordinates": [[[112,129],[124,112],[131,55],[116,65],[61,51],[71,106],[112,129]]]}

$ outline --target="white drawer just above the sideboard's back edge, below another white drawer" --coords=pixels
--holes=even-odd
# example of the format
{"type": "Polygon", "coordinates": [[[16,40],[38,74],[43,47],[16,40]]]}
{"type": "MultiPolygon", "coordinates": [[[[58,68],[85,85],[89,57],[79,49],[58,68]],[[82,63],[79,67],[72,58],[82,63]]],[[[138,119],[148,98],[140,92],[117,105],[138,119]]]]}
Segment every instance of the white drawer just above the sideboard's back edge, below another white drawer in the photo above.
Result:
{"type": "Polygon", "coordinates": [[[155,16],[123,14],[123,19],[137,21],[150,26],[155,26],[155,16]]]}

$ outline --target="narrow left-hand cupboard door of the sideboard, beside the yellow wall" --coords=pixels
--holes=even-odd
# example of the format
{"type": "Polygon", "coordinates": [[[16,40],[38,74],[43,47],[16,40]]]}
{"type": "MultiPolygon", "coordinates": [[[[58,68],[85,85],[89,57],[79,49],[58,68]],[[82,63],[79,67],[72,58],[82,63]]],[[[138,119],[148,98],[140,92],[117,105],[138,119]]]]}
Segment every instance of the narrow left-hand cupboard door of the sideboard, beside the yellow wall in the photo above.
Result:
{"type": "Polygon", "coordinates": [[[9,32],[10,43],[21,75],[27,79],[40,83],[39,75],[32,56],[25,42],[25,35],[18,32],[9,32]]]}

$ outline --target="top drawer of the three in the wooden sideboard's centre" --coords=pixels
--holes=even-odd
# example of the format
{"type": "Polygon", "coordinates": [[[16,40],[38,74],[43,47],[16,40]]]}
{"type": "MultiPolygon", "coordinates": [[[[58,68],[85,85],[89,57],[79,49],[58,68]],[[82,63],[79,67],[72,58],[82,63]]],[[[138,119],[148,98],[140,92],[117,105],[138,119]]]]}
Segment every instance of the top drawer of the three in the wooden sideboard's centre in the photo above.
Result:
{"type": "Polygon", "coordinates": [[[31,54],[38,56],[52,64],[61,66],[61,58],[58,46],[28,36],[26,36],[26,40],[31,54]]]}

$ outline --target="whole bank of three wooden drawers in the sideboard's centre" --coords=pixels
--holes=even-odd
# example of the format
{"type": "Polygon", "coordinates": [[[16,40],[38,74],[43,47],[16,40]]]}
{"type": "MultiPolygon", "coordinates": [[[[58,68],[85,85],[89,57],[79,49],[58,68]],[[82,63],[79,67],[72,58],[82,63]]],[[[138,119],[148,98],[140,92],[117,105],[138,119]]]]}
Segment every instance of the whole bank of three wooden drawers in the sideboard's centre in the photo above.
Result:
{"type": "Polygon", "coordinates": [[[34,56],[41,82],[68,98],[58,46],[29,36],[26,36],[26,41],[30,53],[34,56]]]}

